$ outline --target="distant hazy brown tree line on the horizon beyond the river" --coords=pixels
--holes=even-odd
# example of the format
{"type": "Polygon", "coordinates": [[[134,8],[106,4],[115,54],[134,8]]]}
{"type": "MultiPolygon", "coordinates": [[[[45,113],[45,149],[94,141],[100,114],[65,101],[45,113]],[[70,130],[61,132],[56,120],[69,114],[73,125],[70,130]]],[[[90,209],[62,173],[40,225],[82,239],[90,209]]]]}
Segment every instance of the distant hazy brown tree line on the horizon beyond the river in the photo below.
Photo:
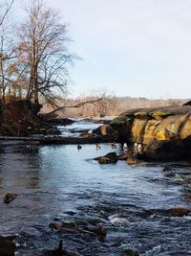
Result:
{"type": "MultiPolygon", "coordinates": [[[[57,105],[65,105],[58,109],[57,114],[60,117],[100,117],[100,116],[117,116],[129,109],[142,108],[142,107],[163,107],[169,105],[182,105],[187,100],[150,100],[147,98],[135,98],[135,97],[117,97],[92,95],[78,97],[77,99],[60,99],[57,101],[57,105]],[[98,101],[102,98],[102,101],[98,101]],[[94,101],[94,104],[85,104],[80,107],[74,107],[84,102],[94,101]]],[[[51,112],[53,110],[52,105],[45,104],[42,111],[44,113],[51,112]]]]}

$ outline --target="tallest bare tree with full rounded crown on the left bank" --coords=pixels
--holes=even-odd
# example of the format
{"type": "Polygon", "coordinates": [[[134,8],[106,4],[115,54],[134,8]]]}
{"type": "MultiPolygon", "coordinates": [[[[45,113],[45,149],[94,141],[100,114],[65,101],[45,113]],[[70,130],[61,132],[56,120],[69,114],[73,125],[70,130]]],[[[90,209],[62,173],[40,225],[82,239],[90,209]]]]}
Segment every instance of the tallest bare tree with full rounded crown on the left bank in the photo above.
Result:
{"type": "Polygon", "coordinates": [[[32,0],[28,17],[18,30],[20,62],[27,68],[26,98],[39,103],[39,96],[52,102],[67,86],[68,66],[75,56],[67,49],[67,25],[43,0],[32,0]]]}

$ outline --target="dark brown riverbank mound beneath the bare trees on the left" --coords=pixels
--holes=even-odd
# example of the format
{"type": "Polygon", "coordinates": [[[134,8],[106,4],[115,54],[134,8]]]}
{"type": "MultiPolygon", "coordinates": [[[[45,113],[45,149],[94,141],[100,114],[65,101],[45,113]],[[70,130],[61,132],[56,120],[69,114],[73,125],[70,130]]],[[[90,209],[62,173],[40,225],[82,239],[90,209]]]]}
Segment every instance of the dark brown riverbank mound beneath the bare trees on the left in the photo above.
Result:
{"type": "Polygon", "coordinates": [[[46,119],[39,116],[42,105],[28,101],[0,104],[0,134],[2,136],[30,136],[32,134],[60,134],[46,119]]]}

